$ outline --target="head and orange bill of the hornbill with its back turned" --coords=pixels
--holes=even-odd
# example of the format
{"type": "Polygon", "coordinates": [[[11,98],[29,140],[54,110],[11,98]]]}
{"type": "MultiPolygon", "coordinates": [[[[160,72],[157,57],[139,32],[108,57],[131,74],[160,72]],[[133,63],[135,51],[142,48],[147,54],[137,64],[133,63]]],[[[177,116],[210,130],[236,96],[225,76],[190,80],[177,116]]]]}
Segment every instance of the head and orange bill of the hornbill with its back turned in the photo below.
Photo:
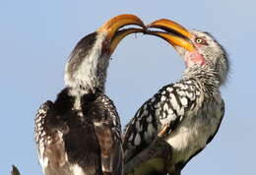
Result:
{"type": "Polygon", "coordinates": [[[66,65],[66,85],[103,90],[109,58],[118,43],[126,35],[143,32],[145,29],[138,17],[124,14],[110,19],[95,32],[86,35],[78,42],[66,65]],[[141,28],[121,29],[128,25],[141,28]]]}

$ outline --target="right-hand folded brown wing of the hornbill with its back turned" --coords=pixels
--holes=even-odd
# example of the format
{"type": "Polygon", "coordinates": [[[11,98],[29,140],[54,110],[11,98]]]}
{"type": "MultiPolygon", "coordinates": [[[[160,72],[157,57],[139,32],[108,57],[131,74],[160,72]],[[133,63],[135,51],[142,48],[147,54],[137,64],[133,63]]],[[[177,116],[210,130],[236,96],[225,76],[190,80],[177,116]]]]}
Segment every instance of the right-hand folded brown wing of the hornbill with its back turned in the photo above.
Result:
{"type": "MultiPolygon", "coordinates": [[[[95,120],[96,137],[101,150],[102,171],[111,175],[122,174],[123,149],[121,141],[121,124],[113,102],[106,96],[96,98],[94,106],[97,108],[95,120]]],[[[94,115],[94,114],[93,114],[94,115]]]]}

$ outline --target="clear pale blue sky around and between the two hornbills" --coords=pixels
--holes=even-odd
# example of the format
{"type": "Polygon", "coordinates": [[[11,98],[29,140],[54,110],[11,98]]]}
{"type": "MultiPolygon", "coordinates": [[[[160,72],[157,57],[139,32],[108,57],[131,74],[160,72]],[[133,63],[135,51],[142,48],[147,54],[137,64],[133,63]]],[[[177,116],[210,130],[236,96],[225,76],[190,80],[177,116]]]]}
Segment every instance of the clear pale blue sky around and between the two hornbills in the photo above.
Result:
{"type": "MultiPolygon", "coordinates": [[[[113,16],[132,13],[146,24],[168,18],[188,29],[210,31],[230,57],[222,127],[183,175],[255,175],[255,6],[253,0],[1,1],[0,174],[9,174],[12,164],[23,175],[42,174],[33,141],[35,111],[63,87],[64,65],[79,39],[113,16]]],[[[123,125],[184,70],[166,42],[142,34],[125,38],[112,57],[106,93],[123,125]]]]}

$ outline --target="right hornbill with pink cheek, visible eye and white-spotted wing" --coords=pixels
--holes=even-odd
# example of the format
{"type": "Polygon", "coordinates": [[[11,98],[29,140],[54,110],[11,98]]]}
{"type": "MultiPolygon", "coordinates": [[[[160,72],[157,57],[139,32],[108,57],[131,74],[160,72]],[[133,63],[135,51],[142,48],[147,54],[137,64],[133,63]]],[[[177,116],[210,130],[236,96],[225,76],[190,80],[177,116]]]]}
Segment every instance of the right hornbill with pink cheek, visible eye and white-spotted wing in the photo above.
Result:
{"type": "Polygon", "coordinates": [[[128,123],[124,162],[134,161],[136,155],[161,138],[171,147],[170,159],[161,172],[151,173],[179,175],[219,130],[224,117],[220,87],[228,73],[228,59],[224,48],[208,32],[187,30],[162,19],[149,25],[147,33],[168,41],[183,58],[186,70],[180,81],[162,87],[147,100],[128,123]]]}

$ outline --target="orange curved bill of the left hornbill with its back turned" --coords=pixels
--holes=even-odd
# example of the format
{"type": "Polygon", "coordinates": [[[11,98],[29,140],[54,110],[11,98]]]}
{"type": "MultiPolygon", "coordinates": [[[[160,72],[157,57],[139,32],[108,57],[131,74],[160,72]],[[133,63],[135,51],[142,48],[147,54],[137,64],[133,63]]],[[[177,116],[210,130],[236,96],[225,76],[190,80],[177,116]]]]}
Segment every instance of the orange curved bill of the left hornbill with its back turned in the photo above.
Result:
{"type": "Polygon", "coordinates": [[[102,25],[97,31],[106,32],[106,37],[110,41],[110,53],[114,51],[118,43],[124,38],[126,35],[134,32],[143,32],[146,30],[146,26],[143,24],[142,20],[135,15],[131,14],[123,14],[116,16],[109,21],[107,21],[104,25],[102,25]],[[128,25],[136,25],[141,27],[142,29],[123,29],[122,31],[118,31],[118,29],[128,26],[128,25]]]}

